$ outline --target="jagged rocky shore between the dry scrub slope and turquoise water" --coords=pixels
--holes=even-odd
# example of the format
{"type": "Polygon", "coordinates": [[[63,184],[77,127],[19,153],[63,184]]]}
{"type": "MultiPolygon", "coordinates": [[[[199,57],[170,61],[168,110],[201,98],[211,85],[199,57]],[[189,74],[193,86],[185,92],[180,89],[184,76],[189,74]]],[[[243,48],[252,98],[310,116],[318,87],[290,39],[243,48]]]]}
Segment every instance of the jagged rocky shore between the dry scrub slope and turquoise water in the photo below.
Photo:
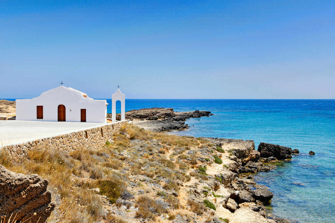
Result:
{"type": "MultiPolygon", "coordinates": [[[[275,168],[274,162],[292,158],[292,149],[261,142],[258,149],[255,150],[253,140],[200,138],[209,140],[217,151],[220,151],[220,148],[226,149],[228,146],[228,158],[231,162],[226,167],[229,172],[220,176],[222,181],[227,182],[226,186],[230,193],[229,198],[225,201],[226,208],[235,212],[238,208],[248,207],[268,218],[264,205],[270,204],[273,193],[266,186],[257,185],[253,181],[252,174],[273,170],[275,168]],[[235,148],[230,149],[229,147],[232,146],[235,148]]],[[[276,223],[289,223],[289,221],[278,217],[271,219],[276,223]]]]}

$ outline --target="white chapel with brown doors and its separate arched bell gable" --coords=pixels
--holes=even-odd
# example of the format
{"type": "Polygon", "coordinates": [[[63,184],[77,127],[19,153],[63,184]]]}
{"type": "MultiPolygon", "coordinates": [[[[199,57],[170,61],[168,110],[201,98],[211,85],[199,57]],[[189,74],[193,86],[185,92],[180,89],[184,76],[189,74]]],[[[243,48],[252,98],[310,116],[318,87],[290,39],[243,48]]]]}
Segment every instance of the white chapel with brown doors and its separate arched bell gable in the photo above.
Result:
{"type": "MultiPolygon", "coordinates": [[[[121,120],[125,119],[125,95],[120,89],[112,95],[112,117],[116,121],[115,102],[121,101],[121,120]]],[[[16,120],[107,122],[107,101],[59,86],[32,99],[16,99],[16,120]]]]}

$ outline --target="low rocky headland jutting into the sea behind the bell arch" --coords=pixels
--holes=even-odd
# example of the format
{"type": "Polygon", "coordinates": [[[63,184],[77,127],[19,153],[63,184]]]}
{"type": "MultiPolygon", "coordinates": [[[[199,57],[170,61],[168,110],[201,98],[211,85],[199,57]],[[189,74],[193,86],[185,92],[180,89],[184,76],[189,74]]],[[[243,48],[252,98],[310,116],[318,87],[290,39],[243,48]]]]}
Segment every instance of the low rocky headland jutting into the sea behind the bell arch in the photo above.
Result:
{"type": "MultiPolygon", "coordinates": [[[[125,118],[145,130],[164,132],[187,129],[186,119],[210,115],[213,115],[210,111],[175,112],[173,108],[144,108],[127,111],[125,118]]],[[[108,113],[107,118],[112,118],[112,114],[108,113]]],[[[117,114],[116,119],[120,120],[121,114],[117,114]]]]}

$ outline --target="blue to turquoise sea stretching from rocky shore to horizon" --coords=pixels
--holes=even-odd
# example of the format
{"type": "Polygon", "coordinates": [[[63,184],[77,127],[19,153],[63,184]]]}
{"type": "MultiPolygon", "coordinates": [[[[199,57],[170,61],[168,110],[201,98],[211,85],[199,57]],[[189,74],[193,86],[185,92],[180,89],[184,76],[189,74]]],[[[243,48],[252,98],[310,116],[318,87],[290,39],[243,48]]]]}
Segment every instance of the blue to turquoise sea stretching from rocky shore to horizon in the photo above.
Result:
{"type": "Polygon", "coordinates": [[[256,149],[260,142],[299,149],[291,161],[255,176],[274,193],[270,212],[299,223],[335,222],[335,100],[126,99],[126,111],[152,107],[215,114],[188,119],[190,128],[174,134],[253,139],[256,149]]]}

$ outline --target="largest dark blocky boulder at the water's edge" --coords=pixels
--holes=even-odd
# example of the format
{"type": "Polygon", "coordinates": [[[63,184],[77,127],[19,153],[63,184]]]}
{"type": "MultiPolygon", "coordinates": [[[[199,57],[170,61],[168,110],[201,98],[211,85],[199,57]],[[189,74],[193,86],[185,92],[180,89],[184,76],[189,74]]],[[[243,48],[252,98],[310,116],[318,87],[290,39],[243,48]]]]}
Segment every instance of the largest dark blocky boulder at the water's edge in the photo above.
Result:
{"type": "Polygon", "coordinates": [[[261,157],[275,157],[278,160],[292,158],[292,148],[261,142],[258,146],[261,157]]]}

